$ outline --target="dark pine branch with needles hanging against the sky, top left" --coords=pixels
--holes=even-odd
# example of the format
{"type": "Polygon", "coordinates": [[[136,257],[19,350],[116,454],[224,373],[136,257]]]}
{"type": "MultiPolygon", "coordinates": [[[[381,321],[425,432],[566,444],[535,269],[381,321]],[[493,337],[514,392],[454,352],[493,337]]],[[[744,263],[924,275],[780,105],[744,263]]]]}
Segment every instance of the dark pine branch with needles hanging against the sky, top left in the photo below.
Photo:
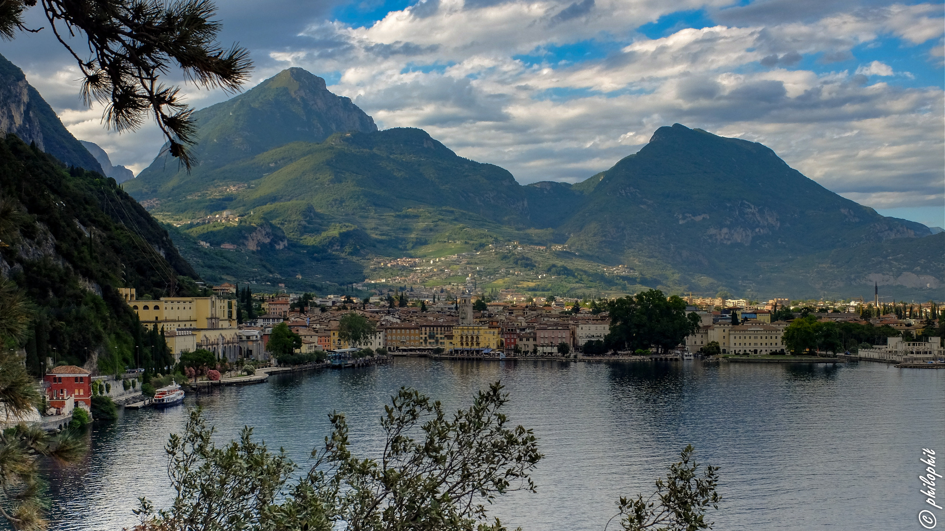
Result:
{"type": "MultiPolygon", "coordinates": [[[[82,75],[86,104],[105,105],[109,128],[128,131],[154,118],[167,139],[165,151],[189,169],[187,147],[195,142],[194,110],[180,88],[160,77],[176,63],[184,77],[205,88],[235,92],[249,79],[249,52],[216,43],[220,23],[205,0],[103,0],[94,3],[41,0],[50,30],[72,54],[82,75]],[[91,57],[66,39],[85,34],[91,57]],[[88,58],[88,59],[84,59],[88,58]]],[[[36,0],[9,0],[0,9],[0,37],[12,40],[24,26],[23,13],[36,0]]]]}

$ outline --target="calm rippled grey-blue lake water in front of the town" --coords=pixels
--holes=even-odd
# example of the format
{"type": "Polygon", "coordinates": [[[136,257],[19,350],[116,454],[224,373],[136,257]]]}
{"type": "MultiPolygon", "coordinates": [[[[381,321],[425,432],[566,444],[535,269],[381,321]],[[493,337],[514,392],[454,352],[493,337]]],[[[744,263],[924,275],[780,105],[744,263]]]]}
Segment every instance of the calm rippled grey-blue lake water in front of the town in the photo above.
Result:
{"type": "Polygon", "coordinates": [[[601,531],[616,500],[650,492],[689,443],[721,467],[716,530],[921,529],[917,515],[927,507],[945,525],[918,480],[922,448],[945,454],[945,370],[411,358],[125,411],[94,428],[84,463],[50,471],[53,529],[117,531],[134,522],[140,495],[169,505],[163,445],[196,403],[218,441],[249,424],[305,465],[329,433],[332,410],[348,415],[358,453],[377,455],[377,420],[401,385],[455,409],[495,380],[510,393],[510,420],[533,428],[545,454],[533,474],[538,493],[516,492],[490,509],[512,528],[601,531]]]}

